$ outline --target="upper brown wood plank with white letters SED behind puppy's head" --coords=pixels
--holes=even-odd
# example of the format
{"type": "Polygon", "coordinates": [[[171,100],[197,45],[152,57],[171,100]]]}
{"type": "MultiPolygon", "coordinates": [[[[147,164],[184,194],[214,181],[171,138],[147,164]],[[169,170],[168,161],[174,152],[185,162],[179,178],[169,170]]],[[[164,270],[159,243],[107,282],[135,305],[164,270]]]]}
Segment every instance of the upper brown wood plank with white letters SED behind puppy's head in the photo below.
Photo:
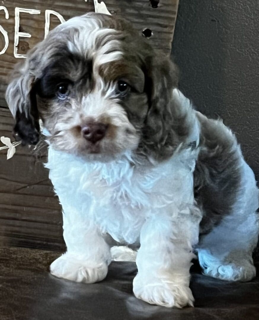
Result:
{"type": "MultiPolygon", "coordinates": [[[[149,41],[154,48],[170,54],[174,25],[179,0],[160,0],[157,8],[152,8],[149,0],[104,0],[109,12],[120,15],[131,21],[140,34],[145,28],[152,30],[149,41]]],[[[1,3],[0,3],[1,4],[1,3]]],[[[31,38],[19,38],[18,53],[26,54],[36,43],[44,39],[45,10],[59,12],[65,20],[71,17],[94,11],[93,0],[20,0],[2,1],[9,13],[6,20],[4,10],[0,11],[0,24],[7,31],[9,46],[7,51],[0,55],[0,106],[6,106],[4,92],[8,83],[8,75],[15,63],[23,58],[14,58],[14,9],[15,7],[40,10],[40,14],[20,13],[20,31],[31,34],[31,38]]],[[[58,18],[51,15],[50,30],[60,23],[58,18]]],[[[0,51],[4,47],[4,37],[0,33],[0,51]]]]}

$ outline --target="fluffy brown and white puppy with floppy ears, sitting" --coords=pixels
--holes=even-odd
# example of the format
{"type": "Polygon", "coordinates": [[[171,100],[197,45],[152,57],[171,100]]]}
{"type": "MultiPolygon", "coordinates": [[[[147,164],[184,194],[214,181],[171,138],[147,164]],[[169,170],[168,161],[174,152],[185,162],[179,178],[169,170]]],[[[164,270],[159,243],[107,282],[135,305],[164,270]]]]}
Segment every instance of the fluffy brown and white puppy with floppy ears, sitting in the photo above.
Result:
{"type": "Polygon", "coordinates": [[[111,246],[131,245],[135,296],[166,307],[193,305],[194,252],[206,275],[255,276],[255,176],[231,131],[176,87],[174,64],[104,14],[58,26],[17,68],[14,131],[36,144],[42,120],[63,208],[67,252],[53,275],[101,281],[111,246]]]}

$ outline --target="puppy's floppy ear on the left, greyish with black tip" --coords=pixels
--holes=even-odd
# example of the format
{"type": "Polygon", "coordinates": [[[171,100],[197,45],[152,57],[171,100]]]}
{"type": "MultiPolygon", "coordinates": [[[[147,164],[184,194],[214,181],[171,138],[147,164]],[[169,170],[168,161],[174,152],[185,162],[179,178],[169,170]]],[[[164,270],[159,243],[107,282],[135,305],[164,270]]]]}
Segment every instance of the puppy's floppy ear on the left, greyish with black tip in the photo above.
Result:
{"type": "Polygon", "coordinates": [[[35,145],[39,140],[35,80],[27,58],[6,90],[5,98],[16,121],[14,134],[22,144],[35,145]]]}

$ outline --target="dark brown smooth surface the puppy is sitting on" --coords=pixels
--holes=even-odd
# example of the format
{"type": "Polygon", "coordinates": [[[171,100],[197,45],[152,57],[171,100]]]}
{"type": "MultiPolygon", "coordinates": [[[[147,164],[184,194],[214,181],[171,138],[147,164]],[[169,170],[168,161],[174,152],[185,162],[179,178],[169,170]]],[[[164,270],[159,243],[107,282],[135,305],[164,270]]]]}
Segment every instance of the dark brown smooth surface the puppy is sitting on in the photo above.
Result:
{"type": "Polygon", "coordinates": [[[61,280],[48,273],[57,252],[0,248],[0,320],[258,319],[259,277],[229,283],[192,274],[195,308],[149,305],[132,294],[136,266],[113,262],[97,284],[61,280]]]}

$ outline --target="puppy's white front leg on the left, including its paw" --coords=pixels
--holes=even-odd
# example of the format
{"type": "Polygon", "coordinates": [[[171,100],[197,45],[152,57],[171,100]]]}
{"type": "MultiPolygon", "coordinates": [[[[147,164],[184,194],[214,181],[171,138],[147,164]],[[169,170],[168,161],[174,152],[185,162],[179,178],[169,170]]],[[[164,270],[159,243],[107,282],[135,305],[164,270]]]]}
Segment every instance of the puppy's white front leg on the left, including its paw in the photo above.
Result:
{"type": "Polygon", "coordinates": [[[76,282],[94,283],[103,280],[111,256],[110,246],[100,230],[77,212],[63,214],[63,229],[67,252],[53,261],[51,274],[76,282]]]}

